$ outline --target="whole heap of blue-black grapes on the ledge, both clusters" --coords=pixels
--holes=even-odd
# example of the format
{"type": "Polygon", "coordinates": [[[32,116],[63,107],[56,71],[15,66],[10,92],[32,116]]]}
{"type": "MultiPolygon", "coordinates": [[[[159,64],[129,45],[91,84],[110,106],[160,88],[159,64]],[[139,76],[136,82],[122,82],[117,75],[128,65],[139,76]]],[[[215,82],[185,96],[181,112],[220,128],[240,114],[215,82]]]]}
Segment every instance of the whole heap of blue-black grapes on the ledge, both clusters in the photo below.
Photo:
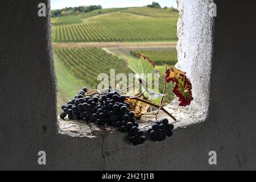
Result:
{"type": "MultiPolygon", "coordinates": [[[[126,96],[122,96],[118,89],[106,89],[102,94],[88,94],[87,88],[82,90],[68,102],[67,106],[62,106],[64,111],[60,118],[68,116],[72,120],[84,120],[97,123],[99,127],[115,126],[122,133],[128,133],[130,141],[137,146],[146,142],[144,132],[139,130],[139,124],[135,120],[135,114],[129,110],[130,104],[126,101],[126,96]]],[[[155,122],[148,130],[150,139],[162,141],[167,136],[171,137],[173,125],[168,124],[168,119],[155,122]]]]}

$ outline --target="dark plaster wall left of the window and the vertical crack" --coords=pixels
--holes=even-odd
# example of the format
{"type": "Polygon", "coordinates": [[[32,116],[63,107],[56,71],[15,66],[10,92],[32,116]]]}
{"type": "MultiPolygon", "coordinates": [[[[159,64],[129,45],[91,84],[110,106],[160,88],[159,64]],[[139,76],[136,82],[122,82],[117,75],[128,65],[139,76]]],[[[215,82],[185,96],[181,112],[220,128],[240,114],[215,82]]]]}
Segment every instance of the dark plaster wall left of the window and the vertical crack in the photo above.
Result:
{"type": "Polygon", "coordinates": [[[102,139],[57,134],[51,17],[38,1],[1,1],[0,169],[101,170],[102,139]],[[38,165],[46,151],[47,166],[38,165]]]}

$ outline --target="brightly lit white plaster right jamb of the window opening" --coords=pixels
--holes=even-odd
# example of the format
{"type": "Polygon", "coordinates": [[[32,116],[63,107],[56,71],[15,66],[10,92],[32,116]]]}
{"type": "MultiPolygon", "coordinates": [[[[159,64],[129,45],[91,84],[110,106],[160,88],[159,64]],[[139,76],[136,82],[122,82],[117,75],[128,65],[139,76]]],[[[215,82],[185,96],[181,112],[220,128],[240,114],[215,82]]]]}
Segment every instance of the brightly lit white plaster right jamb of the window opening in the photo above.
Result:
{"type": "Polygon", "coordinates": [[[193,112],[207,117],[210,72],[212,64],[213,18],[209,16],[212,0],[177,1],[180,18],[177,23],[177,68],[187,72],[192,82],[193,112]]]}

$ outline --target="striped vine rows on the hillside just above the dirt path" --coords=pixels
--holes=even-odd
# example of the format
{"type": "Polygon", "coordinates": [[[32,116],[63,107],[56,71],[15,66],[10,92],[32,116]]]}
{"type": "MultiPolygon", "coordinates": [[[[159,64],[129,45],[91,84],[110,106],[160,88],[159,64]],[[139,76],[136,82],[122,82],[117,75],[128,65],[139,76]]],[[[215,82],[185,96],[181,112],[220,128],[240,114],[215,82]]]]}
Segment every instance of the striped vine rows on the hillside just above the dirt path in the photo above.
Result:
{"type": "Polygon", "coordinates": [[[129,13],[111,13],[88,18],[79,24],[53,26],[53,41],[175,41],[176,23],[176,18],[143,18],[129,13]]]}

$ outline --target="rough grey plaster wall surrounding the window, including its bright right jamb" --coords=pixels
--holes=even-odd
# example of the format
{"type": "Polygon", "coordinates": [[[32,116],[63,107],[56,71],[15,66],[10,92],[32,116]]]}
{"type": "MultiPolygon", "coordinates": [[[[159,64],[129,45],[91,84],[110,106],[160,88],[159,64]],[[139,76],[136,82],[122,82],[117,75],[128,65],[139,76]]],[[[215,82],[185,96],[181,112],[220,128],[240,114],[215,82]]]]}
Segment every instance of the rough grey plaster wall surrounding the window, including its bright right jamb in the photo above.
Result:
{"type": "Polygon", "coordinates": [[[134,147],[120,133],[105,138],[57,133],[51,25],[49,14],[37,16],[39,2],[49,6],[46,0],[1,1],[0,169],[255,169],[254,6],[215,1],[212,22],[200,13],[210,1],[179,1],[185,23],[179,24],[185,41],[178,47],[179,68],[195,85],[191,109],[208,107],[208,119],[176,129],[162,143],[134,147]],[[42,150],[46,166],[37,162],[42,150]],[[217,166],[208,164],[212,150],[217,166]]]}

